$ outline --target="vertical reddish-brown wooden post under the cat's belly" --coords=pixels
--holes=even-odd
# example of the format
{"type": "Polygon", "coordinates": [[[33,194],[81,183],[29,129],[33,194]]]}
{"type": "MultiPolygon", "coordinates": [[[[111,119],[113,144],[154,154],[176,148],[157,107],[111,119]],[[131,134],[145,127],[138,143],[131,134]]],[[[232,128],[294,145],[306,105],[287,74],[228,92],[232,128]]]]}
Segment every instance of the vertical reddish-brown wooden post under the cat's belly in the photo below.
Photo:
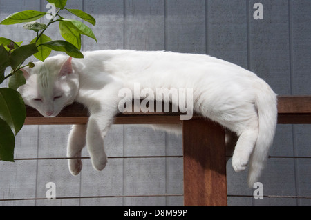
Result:
{"type": "Polygon", "coordinates": [[[227,206],[225,130],[202,119],[183,121],[184,205],[227,206]]]}

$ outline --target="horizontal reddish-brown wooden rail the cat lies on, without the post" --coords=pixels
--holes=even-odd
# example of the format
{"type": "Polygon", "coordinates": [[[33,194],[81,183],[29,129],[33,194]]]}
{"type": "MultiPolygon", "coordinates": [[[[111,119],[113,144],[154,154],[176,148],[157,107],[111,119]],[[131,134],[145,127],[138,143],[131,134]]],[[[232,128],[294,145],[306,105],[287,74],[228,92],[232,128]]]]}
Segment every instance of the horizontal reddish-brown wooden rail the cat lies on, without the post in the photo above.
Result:
{"type": "MultiPolygon", "coordinates": [[[[278,98],[278,123],[311,123],[311,96],[281,96],[278,98]]],[[[202,119],[194,115],[194,119],[202,119]]],[[[37,110],[27,107],[25,124],[84,124],[88,110],[79,103],[67,106],[57,117],[45,118],[37,110]]],[[[115,124],[169,124],[180,123],[179,113],[138,112],[118,114],[115,124]]]]}

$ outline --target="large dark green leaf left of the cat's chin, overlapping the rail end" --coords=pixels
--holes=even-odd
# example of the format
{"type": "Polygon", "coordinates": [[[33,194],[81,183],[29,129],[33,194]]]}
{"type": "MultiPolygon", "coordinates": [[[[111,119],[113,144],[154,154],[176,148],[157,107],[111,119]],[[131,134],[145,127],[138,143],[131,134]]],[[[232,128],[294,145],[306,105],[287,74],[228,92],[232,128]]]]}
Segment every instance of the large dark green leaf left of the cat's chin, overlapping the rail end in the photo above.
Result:
{"type": "Polygon", "coordinates": [[[26,107],[19,92],[11,88],[0,88],[0,118],[15,131],[21,130],[26,119],[26,107]]]}

